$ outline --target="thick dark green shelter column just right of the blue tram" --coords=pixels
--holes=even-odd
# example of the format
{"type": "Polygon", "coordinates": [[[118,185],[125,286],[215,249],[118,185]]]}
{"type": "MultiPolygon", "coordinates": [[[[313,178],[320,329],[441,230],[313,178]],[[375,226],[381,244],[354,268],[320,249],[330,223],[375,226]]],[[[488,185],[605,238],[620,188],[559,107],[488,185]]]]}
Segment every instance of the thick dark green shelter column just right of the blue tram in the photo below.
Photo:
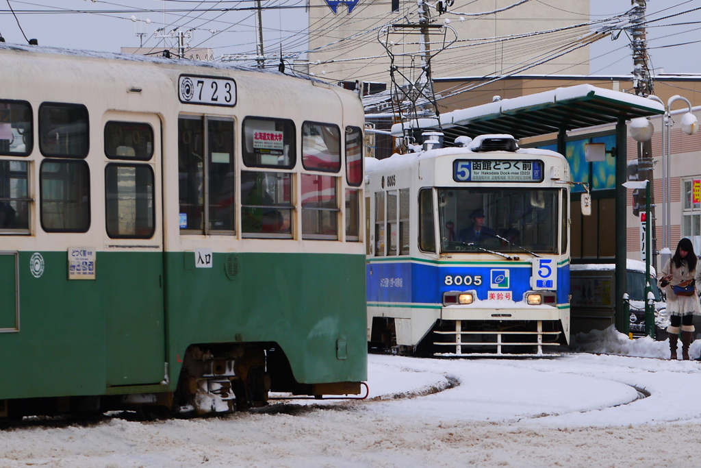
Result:
{"type": "Polygon", "coordinates": [[[628,334],[629,317],[625,316],[623,295],[627,293],[627,203],[623,187],[627,169],[627,126],[619,117],[615,126],[615,328],[628,334]]]}

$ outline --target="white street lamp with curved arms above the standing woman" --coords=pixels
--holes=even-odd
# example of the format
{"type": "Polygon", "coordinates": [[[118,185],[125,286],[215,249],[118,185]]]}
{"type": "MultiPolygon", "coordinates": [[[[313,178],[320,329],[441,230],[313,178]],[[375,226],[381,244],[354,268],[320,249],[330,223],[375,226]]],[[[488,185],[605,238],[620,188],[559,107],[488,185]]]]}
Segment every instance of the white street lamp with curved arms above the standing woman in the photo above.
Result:
{"type": "MultiPolygon", "coordinates": [[[[665,105],[660,98],[657,96],[650,95],[648,99],[660,102],[660,104],[665,105]]],[[[670,210],[670,188],[669,180],[671,179],[670,170],[670,153],[671,153],[671,143],[670,143],[670,128],[674,124],[672,121],[672,104],[678,100],[686,102],[688,106],[688,112],[684,114],[681,118],[681,130],[687,135],[693,135],[699,129],[698,121],[696,116],[691,113],[691,102],[687,98],[680,95],[674,95],[669,100],[667,100],[667,106],[665,107],[665,115],[662,117],[662,251],[660,252],[660,265],[665,265],[667,260],[672,257],[672,250],[669,249],[669,244],[672,243],[672,210],[670,210]]],[[[640,140],[639,140],[640,141],[640,140]]]]}

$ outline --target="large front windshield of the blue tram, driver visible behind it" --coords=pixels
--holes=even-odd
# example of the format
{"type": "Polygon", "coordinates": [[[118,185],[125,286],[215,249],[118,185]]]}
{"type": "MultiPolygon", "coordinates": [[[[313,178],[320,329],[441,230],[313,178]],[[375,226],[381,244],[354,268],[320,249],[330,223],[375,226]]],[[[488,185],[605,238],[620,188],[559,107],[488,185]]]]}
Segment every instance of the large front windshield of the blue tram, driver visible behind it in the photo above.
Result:
{"type": "Polygon", "coordinates": [[[441,250],[557,253],[558,189],[438,189],[441,250]]]}

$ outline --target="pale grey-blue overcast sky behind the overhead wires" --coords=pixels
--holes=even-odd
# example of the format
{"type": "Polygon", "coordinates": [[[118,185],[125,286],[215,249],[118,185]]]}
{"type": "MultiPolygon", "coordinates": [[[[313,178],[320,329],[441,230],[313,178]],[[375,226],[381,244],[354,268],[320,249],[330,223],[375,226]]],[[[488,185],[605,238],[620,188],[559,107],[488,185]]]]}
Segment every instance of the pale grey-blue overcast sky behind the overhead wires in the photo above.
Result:
{"type": "MultiPolygon", "coordinates": [[[[369,1],[369,0],[360,0],[369,1]]],[[[533,0],[557,6],[558,0],[533,0]]],[[[456,0],[454,8],[468,0],[456,0]]],[[[254,11],[200,11],[196,13],[166,13],[167,9],[235,7],[252,8],[254,0],[221,1],[167,1],[162,0],[11,0],[20,25],[27,38],[36,38],[42,46],[84,48],[94,51],[118,52],[120,47],[139,46],[137,32],[146,33],[144,46],[154,50],[164,48],[154,39],[158,27],[166,30],[174,25],[186,30],[195,27],[191,46],[214,48],[215,56],[222,53],[249,53],[255,51],[257,36],[254,28],[254,11]],[[61,8],[97,12],[98,10],[121,11],[115,13],[27,13],[27,10],[61,11],[61,8]],[[138,13],[137,9],[151,9],[138,13]],[[135,10],[126,11],[125,10],[135,10]],[[131,16],[136,21],[131,20],[131,16]],[[150,22],[147,24],[147,20],[150,22]],[[165,21],[164,21],[165,20],[165,21]],[[211,31],[210,31],[211,30],[211,31]]],[[[266,1],[263,1],[266,4],[266,1]]],[[[266,53],[279,51],[283,40],[285,51],[304,51],[305,37],[300,31],[307,27],[304,11],[305,0],[268,0],[268,5],[297,6],[284,10],[265,11],[263,16],[266,38],[266,53]],[[284,18],[284,19],[283,19],[284,18]],[[271,50],[272,49],[272,50],[271,50]]],[[[631,0],[591,0],[592,19],[602,18],[627,11],[631,0]]],[[[680,13],[692,8],[701,8],[701,0],[648,0],[648,19],[680,13]],[[671,7],[671,8],[670,8],[671,7]]],[[[566,15],[566,11],[563,14],[566,15]]],[[[339,8],[339,15],[345,8],[339,8]]],[[[660,20],[648,25],[648,40],[652,64],[665,73],[701,73],[701,42],[676,46],[676,44],[700,41],[701,10],[660,20]],[[690,23],[690,24],[679,24],[690,23]]],[[[6,41],[25,43],[15,18],[10,13],[7,0],[0,0],[0,34],[6,41]]],[[[172,43],[172,41],[170,41],[172,43]]],[[[629,74],[632,69],[629,39],[621,34],[617,40],[602,39],[592,45],[591,74],[629,74]]]]}

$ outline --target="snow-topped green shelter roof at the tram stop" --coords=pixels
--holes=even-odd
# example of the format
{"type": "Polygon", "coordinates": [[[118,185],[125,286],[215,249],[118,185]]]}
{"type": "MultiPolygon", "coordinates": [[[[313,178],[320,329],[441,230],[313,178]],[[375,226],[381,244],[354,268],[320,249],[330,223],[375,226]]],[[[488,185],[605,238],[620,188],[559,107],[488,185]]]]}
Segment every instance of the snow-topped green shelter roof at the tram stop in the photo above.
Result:
{"type": "MultiPolygon", "coordinates": [[[[508,133],[521,139],[557,133],[561,128],[574,130],[664,113],[659,102],[580,84],[447,112],[441,114],[440,121],[446,144],[451,145],[461,135],[475,138],[485,133],[508,133]]],[[[408,125],[416,127],[416,121],[408,125]]],[[[418,119],[418,127],[438,128],[435,118],[418,119]]],[[[402,135],[400,123],[392,126],[392,134],[402,135]]]]}

